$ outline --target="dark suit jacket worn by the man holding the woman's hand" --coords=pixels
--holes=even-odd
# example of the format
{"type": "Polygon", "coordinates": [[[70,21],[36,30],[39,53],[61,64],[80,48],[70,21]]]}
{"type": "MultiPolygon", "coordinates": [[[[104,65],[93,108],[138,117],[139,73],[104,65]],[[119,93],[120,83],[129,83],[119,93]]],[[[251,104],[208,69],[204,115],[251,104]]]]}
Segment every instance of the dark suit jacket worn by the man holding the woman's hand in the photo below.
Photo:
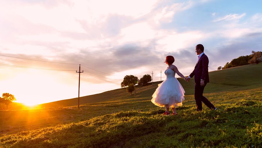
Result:
{"type": "Polygon", "coordinates": [[[201,79],[205,81],[205,83],[209,82],[208,76],[208,57],[203,54],[198,63],[195,66],[193,72],[189,75],[191,78],[195,76],[195,82],[200,84],[201,79]]]}

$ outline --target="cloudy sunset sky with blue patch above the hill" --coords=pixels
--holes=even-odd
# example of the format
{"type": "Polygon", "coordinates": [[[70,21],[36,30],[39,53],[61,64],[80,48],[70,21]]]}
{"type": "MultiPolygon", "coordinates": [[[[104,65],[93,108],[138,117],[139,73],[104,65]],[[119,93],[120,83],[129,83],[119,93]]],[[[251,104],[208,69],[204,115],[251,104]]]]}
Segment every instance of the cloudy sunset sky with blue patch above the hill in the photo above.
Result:
{"type": "Polygon", "coordinates": [[[81,97],[120,88],[125,75],[153,71],[160,81],[162,71],[163,80],[169,55],[188,76],[197,44],[209,71],[262,49],[259,0],[0,0],[0,6],[0,93],[28,105],[78,97],[79,64],[81,97]]]}

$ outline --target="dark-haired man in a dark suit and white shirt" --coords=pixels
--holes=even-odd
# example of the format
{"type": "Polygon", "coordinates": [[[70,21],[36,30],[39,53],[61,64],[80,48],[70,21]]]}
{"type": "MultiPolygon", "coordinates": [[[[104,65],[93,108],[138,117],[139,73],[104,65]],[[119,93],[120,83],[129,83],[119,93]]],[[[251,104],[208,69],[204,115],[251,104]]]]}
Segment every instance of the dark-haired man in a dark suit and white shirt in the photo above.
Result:
{"type": "Polygon", "coordinates": [[[196,53],[198,55],[198,60],[195,69],[187,78],[185,78],[185,80],[189,81],[190,78],[195,76],[195,100],[197,104],[197,111],[202,110],[202,102],[210,109],[217,110],[217,108],[215,108],[215,106],[203,96],[204,88],[209,82],[209,76],[208,57],[204,54],[204,46],[202,44],[198,44],[196,46],[196,53]]]}

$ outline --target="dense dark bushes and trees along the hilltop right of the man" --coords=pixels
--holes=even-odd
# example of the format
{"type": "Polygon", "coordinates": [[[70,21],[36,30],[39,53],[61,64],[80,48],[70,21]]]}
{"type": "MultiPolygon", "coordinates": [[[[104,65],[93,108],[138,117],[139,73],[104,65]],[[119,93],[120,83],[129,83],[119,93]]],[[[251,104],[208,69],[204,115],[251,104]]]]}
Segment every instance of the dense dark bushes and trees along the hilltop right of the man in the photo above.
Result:
{"type": "Polygon", "coordinates": [[[219,66],[217,70],[220,69],[226,69],[226,68],[231,68],[231,67],[237,67],[237,66],[242,66],[242,65],[248,65],[248,64],[258,64],[262,62],[262,52],[261,51],[252,51],[252,54],[248,56],[240,56],[238,58],[235,58],[231,60],[231,62],[227,62],[224,67],[219,66]]]}

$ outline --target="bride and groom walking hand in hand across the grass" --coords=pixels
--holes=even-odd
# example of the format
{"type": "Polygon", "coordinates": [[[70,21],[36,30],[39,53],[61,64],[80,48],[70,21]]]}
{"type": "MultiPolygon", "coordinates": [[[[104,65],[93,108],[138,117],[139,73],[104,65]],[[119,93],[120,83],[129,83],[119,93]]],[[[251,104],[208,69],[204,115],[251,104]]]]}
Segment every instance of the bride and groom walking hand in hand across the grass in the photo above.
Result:
{"type": "Polygon", "coordinates": [[[163,115],[170,115],[169,108],[173,110],[172,115],[177,115],[175,107],[182,106],[182,101],[185,100],[185,90],[176,79],[176,73],[178,76],[185,79],[185,81],[190,81],[190,79],[195,76],[195,100],[197,111],[202,110],[202,102],[210,109],[217,109],[206,97],[203,96],[204,88],[209,82],[209,76],[208,57],[204,54],[204,46],[202,44],[196,46],[196,53],[198,55],[197,64],[188,77],[183,76],[183,74],[178,71],[177,67],[172,65],[175,61],[173,56],[166,57],[165,63],[168,67],[167,70],[165,70],[165,75],[167,78],[162,83],[158,84],[157,89],[152,95],[153,99],[151,99],[153,104],[166,108],[166,112],[163,115]]]}

